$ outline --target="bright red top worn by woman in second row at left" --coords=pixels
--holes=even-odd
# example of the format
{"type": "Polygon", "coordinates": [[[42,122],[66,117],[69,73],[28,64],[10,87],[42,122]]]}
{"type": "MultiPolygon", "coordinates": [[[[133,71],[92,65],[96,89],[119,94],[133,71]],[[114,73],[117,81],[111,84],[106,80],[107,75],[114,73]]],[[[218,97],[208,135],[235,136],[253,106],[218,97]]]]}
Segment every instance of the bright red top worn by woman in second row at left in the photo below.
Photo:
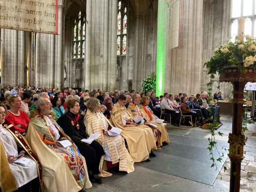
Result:
{"type": "Polygon", "coordinates": [[[24,111],[19,111],[19,112],[20,112],[20,115],[15,115],[9,111],[9,114],[6,117],[6,120],[8,120],[11,124],[13,124],[14,128],[21,133],[21,132],[25,132],[30,119],[28,118],[28,115],[26,114],[26,112],[24,111]],[[23,126],[21,128],[17,128],[16,125],[23,125],[23,126]]]}

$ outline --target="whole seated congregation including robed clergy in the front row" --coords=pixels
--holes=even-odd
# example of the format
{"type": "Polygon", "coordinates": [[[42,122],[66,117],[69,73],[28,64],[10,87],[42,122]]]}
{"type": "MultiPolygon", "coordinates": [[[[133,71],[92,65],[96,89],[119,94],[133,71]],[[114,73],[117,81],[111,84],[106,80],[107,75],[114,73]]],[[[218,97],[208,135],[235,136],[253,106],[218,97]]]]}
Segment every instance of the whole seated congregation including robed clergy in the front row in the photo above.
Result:
{"type": "Polygon", "coordinates": [[[163,112],[174,126],[182,114],[200,126],[214,110],[206,92],[156,97],[134,90],[2,86],[0,95],[2,188],[19,192],[82,192],[112,176],[110,169],[133,172],[134,162],[150,161],[168,145],[163,112]],[[116,128],[122,132],[113,135],[116,128]],[[99,136],[85,143],[92,134],[99,136]]]}

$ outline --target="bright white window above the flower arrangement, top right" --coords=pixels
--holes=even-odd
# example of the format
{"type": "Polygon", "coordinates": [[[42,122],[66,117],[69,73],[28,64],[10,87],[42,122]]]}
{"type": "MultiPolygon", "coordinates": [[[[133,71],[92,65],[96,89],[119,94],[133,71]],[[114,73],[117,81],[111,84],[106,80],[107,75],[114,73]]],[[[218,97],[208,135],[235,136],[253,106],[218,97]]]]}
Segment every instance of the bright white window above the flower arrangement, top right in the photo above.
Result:
{"type": "Polygon", "coordinates": [[[232,0],[231,37],[235,41],[237,18],[245,17],[244,34],[256,37],[256,0],[232,0]]]}

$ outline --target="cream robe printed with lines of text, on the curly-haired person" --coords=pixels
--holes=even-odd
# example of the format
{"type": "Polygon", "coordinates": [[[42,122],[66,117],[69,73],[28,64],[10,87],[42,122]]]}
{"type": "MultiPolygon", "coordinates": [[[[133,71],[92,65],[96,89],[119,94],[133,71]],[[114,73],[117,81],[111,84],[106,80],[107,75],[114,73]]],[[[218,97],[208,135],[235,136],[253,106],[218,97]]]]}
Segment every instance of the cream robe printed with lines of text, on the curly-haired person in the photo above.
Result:
{"type": "Polygon", "coordinates": [[[104,149],[107,148],[109,150],[112,164],[119,162],[120,171],[126,171],[127,173],[134,171],[134,160],[128,153],[122,136],[104,135],[104,132],[108,131],[108,125],[111,127],[113,126],[102,114],[102,112],[95,113],[87,110],[84,118],[84,124],[89,135],[92,133],[101,134],[101,136],[96,141],[99,142],[104,149]]]}

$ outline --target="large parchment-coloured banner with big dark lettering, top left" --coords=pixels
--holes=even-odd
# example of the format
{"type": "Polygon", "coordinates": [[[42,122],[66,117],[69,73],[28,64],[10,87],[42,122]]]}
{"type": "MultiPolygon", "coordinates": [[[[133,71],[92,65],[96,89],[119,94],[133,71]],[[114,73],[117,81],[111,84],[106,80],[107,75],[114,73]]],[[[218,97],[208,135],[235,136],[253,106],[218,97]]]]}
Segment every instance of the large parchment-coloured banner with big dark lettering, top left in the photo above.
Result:
{"type": "Polygon", "coordinates": [[[58,0],[0,0],[0,28],[58,34],[58,0]]]}

